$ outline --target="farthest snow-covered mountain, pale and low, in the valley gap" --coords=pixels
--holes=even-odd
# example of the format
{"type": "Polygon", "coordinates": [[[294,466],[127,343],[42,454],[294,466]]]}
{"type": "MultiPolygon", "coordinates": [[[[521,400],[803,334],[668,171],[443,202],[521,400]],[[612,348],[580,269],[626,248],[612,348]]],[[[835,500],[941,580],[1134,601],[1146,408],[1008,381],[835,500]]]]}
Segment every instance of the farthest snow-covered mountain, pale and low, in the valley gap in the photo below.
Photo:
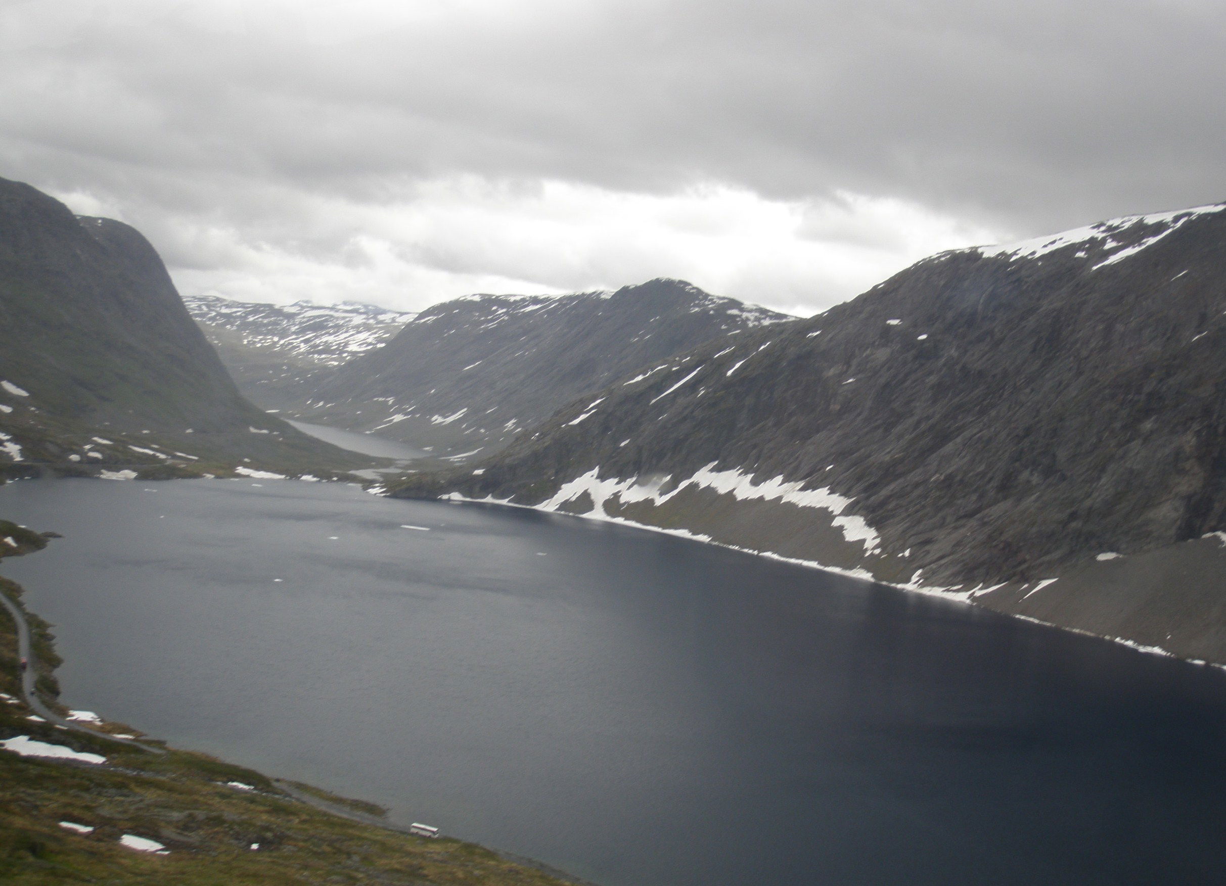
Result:
{"type": "Polygon", "coordinates": [[[183,301],[239,390],[265,408],[293,402],[321,371],[378,348],[416,316],[356,301],[266,305],[217,295],[183,301]]]}

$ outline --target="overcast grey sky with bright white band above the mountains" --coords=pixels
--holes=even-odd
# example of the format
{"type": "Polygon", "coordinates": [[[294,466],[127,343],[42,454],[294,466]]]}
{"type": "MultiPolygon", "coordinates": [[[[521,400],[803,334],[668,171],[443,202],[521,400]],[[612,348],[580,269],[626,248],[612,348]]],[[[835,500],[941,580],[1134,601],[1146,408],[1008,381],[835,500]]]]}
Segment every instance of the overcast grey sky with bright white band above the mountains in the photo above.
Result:
{"type": "Polygon", "coordinates": [[[0,176],[185,293],[794,312],[1226,200],[1220,0],[0,0],[0,176]]]}

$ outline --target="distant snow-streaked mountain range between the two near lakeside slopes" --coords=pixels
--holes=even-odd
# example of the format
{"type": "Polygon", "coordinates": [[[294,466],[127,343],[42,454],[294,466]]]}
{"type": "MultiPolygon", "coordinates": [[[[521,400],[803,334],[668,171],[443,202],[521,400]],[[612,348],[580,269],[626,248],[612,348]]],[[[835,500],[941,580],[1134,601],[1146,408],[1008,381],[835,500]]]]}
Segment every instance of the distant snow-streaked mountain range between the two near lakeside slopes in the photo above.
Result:
{"type": "Polygon", "coordinates": [[[188,301],[215,342],[221,330],[242,337],[244,350],[219,350],[256,402],[452,458],[504,446],[646,363],[793,319],[656,279],[612,293],[454,299],[407,315],[398,333],[371,347],[406,315],[218,303],[188,301]],[[347,342],[356,344],[340,347],[347,342]],[[255,353],[276,357],[261,366],[255,353]]]}

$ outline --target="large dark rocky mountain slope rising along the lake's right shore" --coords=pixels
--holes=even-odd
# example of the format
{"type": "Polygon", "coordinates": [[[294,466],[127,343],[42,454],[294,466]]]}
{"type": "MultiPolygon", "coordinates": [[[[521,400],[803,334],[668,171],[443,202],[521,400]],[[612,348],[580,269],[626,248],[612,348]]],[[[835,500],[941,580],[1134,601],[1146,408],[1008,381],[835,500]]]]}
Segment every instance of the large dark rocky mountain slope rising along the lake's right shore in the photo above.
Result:
{"type": "Polygon", "coordinates": [[[391,494],[684,529],[1226,661],[1224,210],[943,252],[391,494]]]}

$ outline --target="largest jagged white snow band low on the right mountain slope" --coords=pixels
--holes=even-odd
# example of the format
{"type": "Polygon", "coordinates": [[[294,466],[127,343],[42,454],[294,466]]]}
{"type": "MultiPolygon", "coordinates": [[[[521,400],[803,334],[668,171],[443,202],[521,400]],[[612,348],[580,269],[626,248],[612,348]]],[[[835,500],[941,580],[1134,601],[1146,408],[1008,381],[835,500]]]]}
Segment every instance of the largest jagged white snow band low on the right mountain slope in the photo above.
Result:
{"type": "Polygon", "coordinates": [[[732,495],[738,501],[779,500],[783,504],[798,507],[820,507],[834,515],[834,526],[839,527],[847,542],[861,542],[864,545],[864,554],[877,554],[881,549],[881,539],[877,531],[868,522],[853,513],[843,515],[843,511],[853,501],[847,496],[830,490],[829,487],[820,489],[802,489],[804,480],[785,482],[782,474],[754,483],[753,474],[744,473],[741,468],[731,471],[715,471],[718,462],[711,462],[700,468],[693,477],[682,480],[671,493],[661,493],[661,488],[669,479],[662,477],[657,480],[640,482],[638,477],[629,479],[608,478],[600,479],[600,468],[592,468],[586,474],[576,477],[563,484],[552,499],[542,502],[538,507],[547,511],[557,511],[562,505],[574,501],[584,493],[592,499],[591,515],[608,516],[604,504],[614,496],[618,504],[628,505],[639,501],[651,501],[660,506],[680,493],[683,489],[711,489],[721,495],[732,495]]]}

